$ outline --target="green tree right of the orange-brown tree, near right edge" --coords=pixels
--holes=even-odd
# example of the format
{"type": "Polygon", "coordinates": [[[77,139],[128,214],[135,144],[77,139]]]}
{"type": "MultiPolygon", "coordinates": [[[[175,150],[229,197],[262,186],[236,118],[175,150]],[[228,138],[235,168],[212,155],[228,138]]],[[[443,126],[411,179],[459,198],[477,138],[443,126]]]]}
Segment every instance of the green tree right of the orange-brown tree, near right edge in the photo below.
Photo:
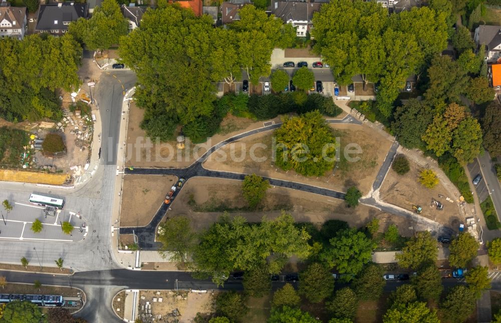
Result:
{"type": "Polygon", "coordinates": [[[482,130],[473,117],[462,120],[452,132],[452,155],[461,165],[473,161],[481,151],[482,130]]]}

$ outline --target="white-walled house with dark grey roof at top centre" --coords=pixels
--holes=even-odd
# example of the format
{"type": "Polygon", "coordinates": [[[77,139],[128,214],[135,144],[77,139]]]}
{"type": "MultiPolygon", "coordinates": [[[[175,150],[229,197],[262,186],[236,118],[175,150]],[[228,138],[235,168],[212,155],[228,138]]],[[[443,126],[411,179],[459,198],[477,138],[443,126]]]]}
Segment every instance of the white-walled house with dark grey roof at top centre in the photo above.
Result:
{"type": "Polygon", "coordinates": [[[322,3],[272,0],[271,12],[286,23],[296,27],[296,35],[305,37],[312,27],[313,12],[320,10],[322,3]]]}

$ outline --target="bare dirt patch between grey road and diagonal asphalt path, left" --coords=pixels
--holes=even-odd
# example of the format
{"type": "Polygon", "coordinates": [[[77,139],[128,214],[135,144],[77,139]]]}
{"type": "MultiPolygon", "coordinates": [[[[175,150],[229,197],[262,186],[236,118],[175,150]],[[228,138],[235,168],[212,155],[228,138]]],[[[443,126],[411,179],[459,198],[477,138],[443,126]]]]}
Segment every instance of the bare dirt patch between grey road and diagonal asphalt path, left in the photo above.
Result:
{"type": "Polygon", "coordinates": [[[176,180],[176,176],[124,176],[120,226],[147,225],[176,180]]]}

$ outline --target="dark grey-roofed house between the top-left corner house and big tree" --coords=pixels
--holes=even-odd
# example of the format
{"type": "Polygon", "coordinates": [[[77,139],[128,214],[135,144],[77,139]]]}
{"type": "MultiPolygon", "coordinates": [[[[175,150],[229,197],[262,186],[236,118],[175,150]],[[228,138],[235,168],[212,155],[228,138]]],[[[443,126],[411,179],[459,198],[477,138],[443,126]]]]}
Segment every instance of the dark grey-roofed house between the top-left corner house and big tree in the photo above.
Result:
{"type": "Polygon", "coordinates": [[[43,4],[38,12],[35,28],[38,32],[62,35],[68,30],[70,22],[78,18],[87,18],[87,3],[63,2],[43,4]]]}

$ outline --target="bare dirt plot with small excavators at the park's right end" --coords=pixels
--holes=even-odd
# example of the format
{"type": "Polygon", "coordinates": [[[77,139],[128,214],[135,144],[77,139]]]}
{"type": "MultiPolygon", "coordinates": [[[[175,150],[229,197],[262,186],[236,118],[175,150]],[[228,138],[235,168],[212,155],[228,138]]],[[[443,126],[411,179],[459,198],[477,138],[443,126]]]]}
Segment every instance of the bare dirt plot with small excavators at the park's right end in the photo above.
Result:
{"type": "Polygon", "coordinates": [[[386,202],[412,210],[412,204],[423,208],[420,215],[435,220],[441,224],[457,227],[459,225],[459,210],[456,203],[451,203],[445,198],[447,190],[439,183],[434,188],[426,188],[419,183],[419,172],[422,168],[409,160],[410,171],[399,175],[390,168],[380,188],[380,197],[386,202]],[[439,197],[438,194],[444,197],[439,197]],[[440,201],[444,208],[439,211],[431,207],[431,199],[440,201]]]}

